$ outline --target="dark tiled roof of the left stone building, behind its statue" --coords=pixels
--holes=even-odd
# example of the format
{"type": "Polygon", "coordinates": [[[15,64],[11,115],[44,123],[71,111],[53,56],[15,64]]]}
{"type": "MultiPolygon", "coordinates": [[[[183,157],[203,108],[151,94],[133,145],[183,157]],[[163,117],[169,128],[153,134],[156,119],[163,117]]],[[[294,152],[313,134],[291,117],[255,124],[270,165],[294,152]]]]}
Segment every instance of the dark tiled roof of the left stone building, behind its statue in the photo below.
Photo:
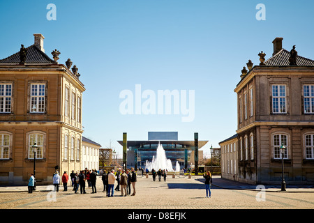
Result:
{"type": "MultiPolygon", "coordinates": [[[[17,52],[6,59],[1,59],[0,63],[20,63],[20,52],[17,52]]],[[[25,63],[55,63],[47,54],[38,49],[35,45],[27,47],[27,57],[25,63]]]]}

